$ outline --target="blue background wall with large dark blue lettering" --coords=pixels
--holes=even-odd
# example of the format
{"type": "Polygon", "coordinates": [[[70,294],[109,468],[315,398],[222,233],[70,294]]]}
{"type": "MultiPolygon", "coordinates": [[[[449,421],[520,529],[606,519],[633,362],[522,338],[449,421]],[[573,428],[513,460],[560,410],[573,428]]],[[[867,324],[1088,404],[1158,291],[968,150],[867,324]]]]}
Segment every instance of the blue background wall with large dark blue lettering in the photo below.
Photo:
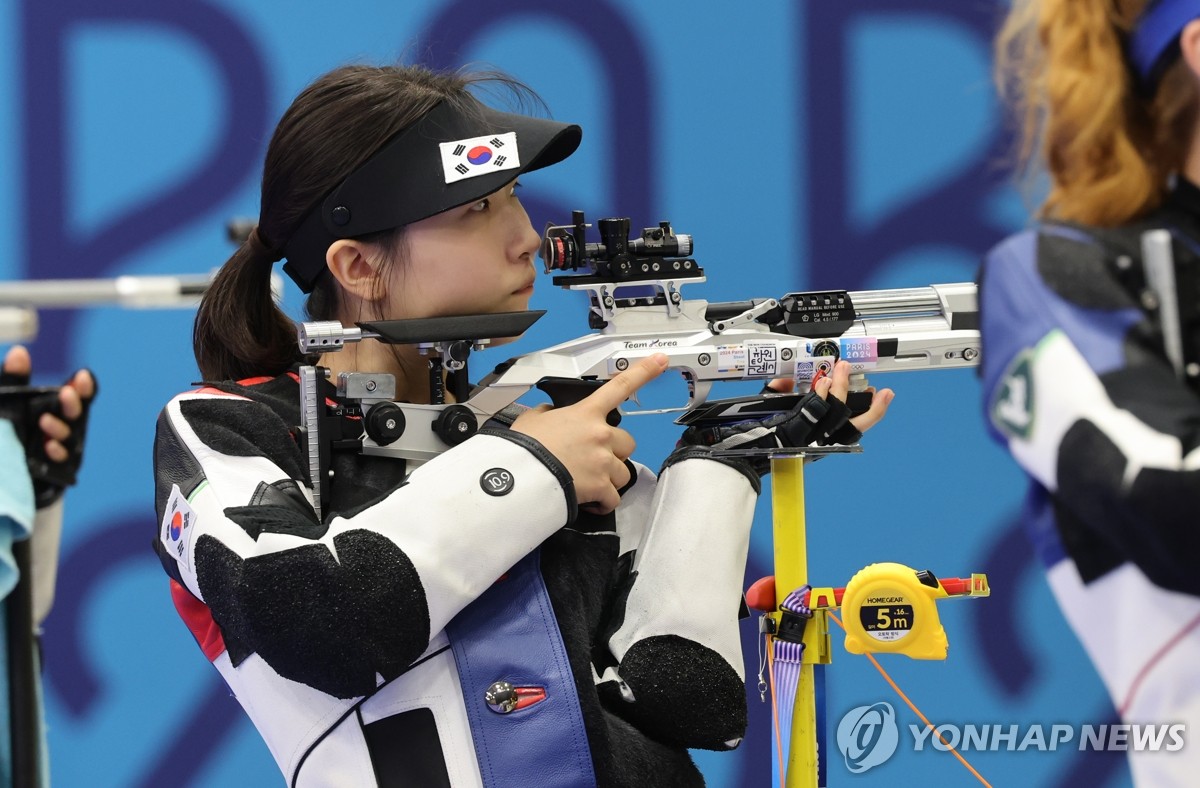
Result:
{"type": "MultiPolygon", "coordinates": [[[[991,0],[5,0],[0,4],[0,239],[8,278],[196,273],[228,255],[223,227],[257,213],[275,119],[307,82],[348,61],[485,61],[521,77],[583,148],[526,179],[534,224],[671,219],[697,239],[707,284],[733,300],[805,288],[971,279],[1025,210],[1001,167],[989,78],[991,0]]],[[[516,347],[586,330],[572,294],[539,285],[551,315],[516,347]]],[[[290,311],[299,293],[286,293],[290,311]]],[[[197,378],[187,312],[47,311],[38,381],[92,367],[89,456],[72,491],[59,597],[46,631],[47,706],[60,786],[278,784],[266,748],[176,619],[150,549],[155,415],[197,378]]],[[[509,349],[503,351],[509,355],[509,349]]],[[[502,360],[487,357],[487,363],[502,360]]],[[[810,575],[840,585],[898,560],[986,571],[994,596],[942,606],[944,663],[886,660],[936,722],[1109,721],[1111,705],[1054,608],[1014,524],[1021,479],[985,439],[967,371],[893,375],[866,451],[811,467],[810,575]]],[[[634,421],[642,459],[673,443],[634,421]]],[[[748,576],[770,572],[766,497],[748,576]]],[[[748,625],[748,674],[754,644],[748,625]]],[[[835,638],[829,718],[888,700],[835,638]]],[[[767,706],[750,736],[700,753],[714,787],[768,784],[767,706]]],[[[905,747],[833,784],[971,778],[942,752],[905,747]]],[[[984,753],[994,784],[1128,784],[1120,758],[984,753]]]]}

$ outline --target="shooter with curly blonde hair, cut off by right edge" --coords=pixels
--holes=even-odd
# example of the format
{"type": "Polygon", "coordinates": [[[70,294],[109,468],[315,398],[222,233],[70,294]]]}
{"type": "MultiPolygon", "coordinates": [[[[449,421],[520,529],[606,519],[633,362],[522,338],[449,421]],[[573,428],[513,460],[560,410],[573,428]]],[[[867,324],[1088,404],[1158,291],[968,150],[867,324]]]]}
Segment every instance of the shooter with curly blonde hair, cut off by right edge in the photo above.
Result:
{"type": "MultiPolygon", "coordinates": [[[[1030,476],[1050,585],[1122,720],[1200,730],[1200,2],[1016,2],[998,77],[1049,174],[1036,229],[980,279],[986,408],[1030,476]],[[1178,369],[1142,234],[1175,260],[1178,369]]],[[[1162,734],[1158,728],[1158,734],[1162,734]]],[[[1156,734],[1156,735],[1158,735],[1156,734]]],[[[1135,745],[1144,786],[1194,784],[1178,730],[1135,745]]]]}

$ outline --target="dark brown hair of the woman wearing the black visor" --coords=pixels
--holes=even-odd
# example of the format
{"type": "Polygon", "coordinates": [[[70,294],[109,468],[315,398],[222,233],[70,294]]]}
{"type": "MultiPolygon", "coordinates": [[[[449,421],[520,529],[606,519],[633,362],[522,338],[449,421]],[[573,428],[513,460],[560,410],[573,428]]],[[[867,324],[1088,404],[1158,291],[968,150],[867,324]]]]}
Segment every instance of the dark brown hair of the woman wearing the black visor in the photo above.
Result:
{"type": "MultiPolygon", "coordinates": [[[[467,106],[472,85],[506,88],[536,98],[494,71],[434,72],[421,66],[343,66],[308,85],[275,127],[263,166],[258,227],[217,272],[192,331],[205,380],[275,375],[301,360],[295,324],[271,296],[271,265],[308,212],[389,139],[439,102],[467,106]]],[[[361,240],[378,242],[395,263],[403,228],[361,240]]],[[[314,320],[334,319],[341,288],[326,271],[305,306],[314,320]]]]}

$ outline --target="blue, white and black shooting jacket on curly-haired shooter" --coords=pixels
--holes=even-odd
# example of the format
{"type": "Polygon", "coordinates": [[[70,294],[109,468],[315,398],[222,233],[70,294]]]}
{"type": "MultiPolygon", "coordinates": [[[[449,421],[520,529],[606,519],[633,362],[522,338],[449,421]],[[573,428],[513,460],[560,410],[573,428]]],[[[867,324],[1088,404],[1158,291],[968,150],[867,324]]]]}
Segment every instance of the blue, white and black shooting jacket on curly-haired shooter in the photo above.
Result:
{"type": "MultiPolygon", "coordinates": [[[[1200,732],[1200,397],[1142,299],[1141,234],[1172,236],[1184,356],[1200,361],[1200,190],[1115,230],[1044,224],[980,276],[991,433],[1028,477],[1021,517],[1129,723],[1200,732]]],[[[1097,720],[1096,722],[1103,722],[1097,720]]],[[[1194,784],[1200,750],[1135,751],[1138,784],[1194,784]]]]}

